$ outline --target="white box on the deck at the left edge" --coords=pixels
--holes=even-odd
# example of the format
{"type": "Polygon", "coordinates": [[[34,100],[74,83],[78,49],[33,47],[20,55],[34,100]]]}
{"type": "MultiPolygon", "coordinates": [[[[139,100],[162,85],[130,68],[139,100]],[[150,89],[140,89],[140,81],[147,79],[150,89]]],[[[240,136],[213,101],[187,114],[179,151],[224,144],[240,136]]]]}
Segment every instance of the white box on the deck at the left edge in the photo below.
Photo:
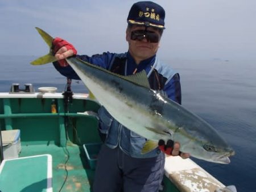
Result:
{"type": "Polygon", "coordinates": [[[3,159],[18,158],[21,151],[20,130],[1,131],[3,159]]]}

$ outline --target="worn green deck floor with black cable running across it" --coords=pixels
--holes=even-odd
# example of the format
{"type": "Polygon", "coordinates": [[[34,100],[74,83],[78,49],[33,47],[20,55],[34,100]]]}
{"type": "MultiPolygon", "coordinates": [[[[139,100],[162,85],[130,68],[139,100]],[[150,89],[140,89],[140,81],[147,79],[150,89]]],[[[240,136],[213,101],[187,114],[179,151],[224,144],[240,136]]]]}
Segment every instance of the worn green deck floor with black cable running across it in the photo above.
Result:
{"type": "Polygon", "coordinates": [[[67,146],[67,149],[49,145],[22,145],[20,157],[32,155],[52,155],[52,186],[53,191],[92,191],[94,171],[89,168],[84,149],[77,145],[67,146]],[[66,164],[65,162],[69,160],[66,164]],[[65,178],[67,176],[67,180],[65,178]]]}

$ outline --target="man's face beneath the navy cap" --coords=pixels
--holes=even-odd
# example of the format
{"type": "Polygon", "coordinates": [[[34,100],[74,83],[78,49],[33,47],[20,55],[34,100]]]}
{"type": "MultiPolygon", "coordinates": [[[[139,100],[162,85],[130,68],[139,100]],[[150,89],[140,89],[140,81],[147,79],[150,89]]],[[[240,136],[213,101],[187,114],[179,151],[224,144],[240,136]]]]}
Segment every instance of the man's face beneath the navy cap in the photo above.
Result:
{"type": "MultiPolygon", "coordinates": [[[[146,37],[137,38],[135,40],[133,37],[139,34],[139,32],[145,31],[144,26],[133,26],[126,30],[126,41],[129,43],[129,52],[131,56],[135,59],[137,64],[145,59],[148,59],[156,54],[159,48],[159,41],[157,43],[151,43],[146,37]],[[138,31],[138,33],[137,33],[138,31]],[[135,35],[134,35],[135,34],[135,35]],[[132,38],[131,38],[131,35],[132,38]]],[[[147,32],[152,33],[152,36],[157,35],[160,40],[160,32],[158,29],[154,27],[147,27],[147,32]],[[153,34],[154,33],[154,34],[153,34]]]]}

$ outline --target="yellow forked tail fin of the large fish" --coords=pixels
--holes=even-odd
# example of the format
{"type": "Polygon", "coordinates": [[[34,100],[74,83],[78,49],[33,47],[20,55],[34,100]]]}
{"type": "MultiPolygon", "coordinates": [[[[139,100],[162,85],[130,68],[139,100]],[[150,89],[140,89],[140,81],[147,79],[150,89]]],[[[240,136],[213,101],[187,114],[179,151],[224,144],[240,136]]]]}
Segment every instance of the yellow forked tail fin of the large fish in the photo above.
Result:
{"type": "Polygon", "coordinates": [[[38,32],[42,36],[43,40],[46,41],[46,43],[48,44],[49,53],[47,55],[39,57],[38,59],[30,62],[30,64],[32,64],[32,65],[43,65],[43,64],[47,64],[49,62],[57,61],[57,59],[53,56],[53,52],[52,52],[53,37],[50,36],[49,34],[47,34],[47,32],[41,30],[38,27],[36,27],[36,30],[38,30],[38,32]]]}

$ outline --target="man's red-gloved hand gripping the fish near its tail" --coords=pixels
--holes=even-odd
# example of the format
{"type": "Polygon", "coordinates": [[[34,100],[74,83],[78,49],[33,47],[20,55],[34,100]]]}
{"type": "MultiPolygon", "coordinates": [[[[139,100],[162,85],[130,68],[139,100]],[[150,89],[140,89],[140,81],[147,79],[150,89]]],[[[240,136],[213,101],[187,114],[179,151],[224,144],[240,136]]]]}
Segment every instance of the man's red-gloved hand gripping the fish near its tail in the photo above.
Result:
{"type": "Polygon", "coordinates": [[[53,53],[55,54],[60,66],[68,66],[68,62],[65,59],[76,55],[77,53],[75,47],[71,43],[68,43],[68,41],[59,37],[53,39],[52,46],[53,53]]]}

